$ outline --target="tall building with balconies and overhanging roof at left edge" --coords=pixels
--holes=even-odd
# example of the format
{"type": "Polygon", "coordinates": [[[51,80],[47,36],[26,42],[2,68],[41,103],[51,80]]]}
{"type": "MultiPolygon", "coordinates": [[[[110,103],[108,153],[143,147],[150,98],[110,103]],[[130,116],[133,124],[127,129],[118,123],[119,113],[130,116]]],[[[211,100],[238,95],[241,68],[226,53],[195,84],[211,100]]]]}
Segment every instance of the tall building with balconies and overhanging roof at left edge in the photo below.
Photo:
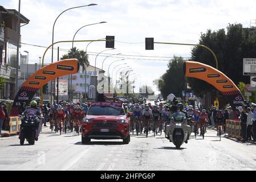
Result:
{"type": "MultiPolygon", "coordinates": [[[[0,99],[5,100],[14,100],[15,97],[16,63],[19,61],[17,57],[18,27],[30,21],[21,14],[21,24],[18,24],[18,14],[16,10],[0,6],[0,77],[5,78],[3,90],[0,90],[0,99]]],[[[19,35],[19,43],[21,43],[21,35],[19,35]]],[[[18,77],[20,77],[20,64],[18,69],[18,77]]]]}

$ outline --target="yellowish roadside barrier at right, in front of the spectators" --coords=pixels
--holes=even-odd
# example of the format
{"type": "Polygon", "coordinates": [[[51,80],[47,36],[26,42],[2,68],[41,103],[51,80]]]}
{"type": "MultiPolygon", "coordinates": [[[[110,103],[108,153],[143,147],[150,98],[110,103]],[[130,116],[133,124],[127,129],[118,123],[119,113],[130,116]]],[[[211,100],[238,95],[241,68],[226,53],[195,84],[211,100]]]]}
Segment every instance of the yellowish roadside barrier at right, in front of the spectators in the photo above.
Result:
{"type": "Polygon", "coordinates": [[[242,138],[241,121],[226,120],[226,133],[229,137],[242,138]]]}

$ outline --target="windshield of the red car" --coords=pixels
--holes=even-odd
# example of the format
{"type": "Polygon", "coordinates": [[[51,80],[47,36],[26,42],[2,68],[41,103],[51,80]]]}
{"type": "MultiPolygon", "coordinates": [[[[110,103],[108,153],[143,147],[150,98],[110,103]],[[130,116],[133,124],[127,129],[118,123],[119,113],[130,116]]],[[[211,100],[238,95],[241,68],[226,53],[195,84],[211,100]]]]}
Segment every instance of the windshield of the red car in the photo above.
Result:
{"type": "Polygon", "coordinates": [[[87,115],[125,115],[123,107],[91,106],[87,115]]]}

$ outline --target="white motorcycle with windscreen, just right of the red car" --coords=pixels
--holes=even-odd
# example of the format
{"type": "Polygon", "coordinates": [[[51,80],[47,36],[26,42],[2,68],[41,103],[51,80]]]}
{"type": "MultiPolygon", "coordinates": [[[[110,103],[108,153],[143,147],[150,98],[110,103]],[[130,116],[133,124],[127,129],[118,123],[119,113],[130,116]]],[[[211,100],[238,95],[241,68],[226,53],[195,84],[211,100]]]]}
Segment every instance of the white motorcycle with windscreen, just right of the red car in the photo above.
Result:
{"type": "Polygon", "coordinates": [[[188,143],[191,128],[188,126],[184,113],[180,111],[173,113],[170,125],[166,126],[166,130],[167,138],[173,142],[176,148],[180,148],[184,142],[188,143]]]}

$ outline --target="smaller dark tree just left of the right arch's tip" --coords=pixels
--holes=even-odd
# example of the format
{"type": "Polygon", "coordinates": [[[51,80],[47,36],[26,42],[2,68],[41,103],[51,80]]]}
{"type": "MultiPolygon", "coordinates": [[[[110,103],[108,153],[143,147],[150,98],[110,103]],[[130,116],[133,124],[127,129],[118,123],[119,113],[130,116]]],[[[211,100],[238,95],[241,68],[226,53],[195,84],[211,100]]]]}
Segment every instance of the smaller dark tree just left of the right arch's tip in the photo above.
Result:
{"type": "Polygon", "coordinates": [[[177,56],[169,61],[169,69],[159,80],[162,97],[166,98],[170,93],[173,93],[176,97],[182,97],[182,90],[185,89],[185,77],[182,72],[183,63],[182,57],[177,56]]]}

